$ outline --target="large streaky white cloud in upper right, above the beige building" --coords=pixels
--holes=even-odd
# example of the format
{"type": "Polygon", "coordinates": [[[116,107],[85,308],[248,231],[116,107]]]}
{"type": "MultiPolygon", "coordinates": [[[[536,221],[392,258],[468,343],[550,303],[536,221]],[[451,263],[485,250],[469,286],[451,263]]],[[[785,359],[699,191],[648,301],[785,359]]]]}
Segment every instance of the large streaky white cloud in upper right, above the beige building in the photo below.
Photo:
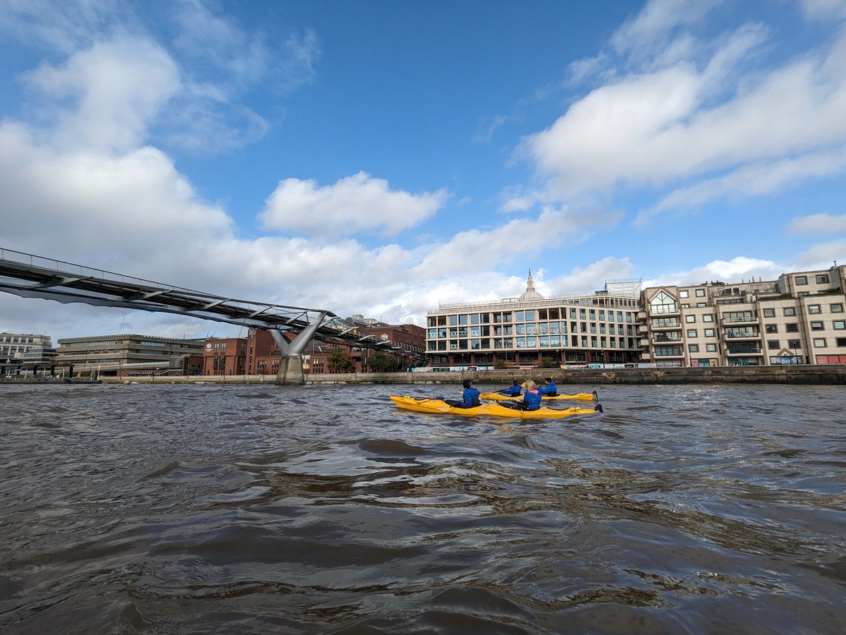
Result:
{"type": "MultiPolygon", "coordinates": [[[[618,31],[618,47],[695,22],[682,17],[688,5],[651,3],[618,31]]],[[[688,52],[685,40],[678,59],[614,79],[574,102],[547,130],[526,137],[517,156],[547,179],[547,200],[687,181],[642,215],[641,224],[688,202],[842,174],[846,36],[768,71],[744,71],[767,36],[761,25],[744,25],[688,52]],[[709,48],[710,57],[695,59],[709,48]]],[[[679,38],[686,34],[673,43],[679,38]]]]}

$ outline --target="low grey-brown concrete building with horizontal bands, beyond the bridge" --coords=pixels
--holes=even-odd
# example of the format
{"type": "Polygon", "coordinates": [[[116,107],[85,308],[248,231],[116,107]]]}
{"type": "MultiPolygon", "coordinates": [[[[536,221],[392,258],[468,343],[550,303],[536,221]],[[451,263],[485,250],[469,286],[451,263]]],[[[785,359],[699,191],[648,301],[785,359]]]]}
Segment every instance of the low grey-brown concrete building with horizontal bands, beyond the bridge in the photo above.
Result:
{"type": "Polygon", "coordinates": [[[58,340],[58,368],[69,377],[92,373],[117,377],[169,374],[172,357],[200,356],[203,340],[156,335],[93,335],[58,340]]]}

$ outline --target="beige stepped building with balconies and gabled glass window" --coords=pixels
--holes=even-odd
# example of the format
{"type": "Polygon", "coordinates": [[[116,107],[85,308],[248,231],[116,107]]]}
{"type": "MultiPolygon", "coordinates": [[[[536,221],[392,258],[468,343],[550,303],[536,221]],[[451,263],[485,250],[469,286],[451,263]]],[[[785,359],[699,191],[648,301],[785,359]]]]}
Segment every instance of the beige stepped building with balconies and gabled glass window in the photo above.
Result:
{"type": "Polygon", "coordinates": [[[661,367],[846,363],[846,268],[777,280],[649,287],[642,360],[661,367]]]}

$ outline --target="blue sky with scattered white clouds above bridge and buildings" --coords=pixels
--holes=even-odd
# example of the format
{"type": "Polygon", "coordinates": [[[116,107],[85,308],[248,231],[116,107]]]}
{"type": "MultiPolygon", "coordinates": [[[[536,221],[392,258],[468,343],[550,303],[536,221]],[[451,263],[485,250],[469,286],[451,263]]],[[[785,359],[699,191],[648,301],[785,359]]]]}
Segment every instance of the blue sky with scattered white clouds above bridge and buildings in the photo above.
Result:
{"type": "MultiPolygon", "coordinates": [[[[0,248],[425,325],[846,262],[846,0],[3,0],[0,248]]],[[[0,293],[0,332],[245,335],[0,293]]]]}

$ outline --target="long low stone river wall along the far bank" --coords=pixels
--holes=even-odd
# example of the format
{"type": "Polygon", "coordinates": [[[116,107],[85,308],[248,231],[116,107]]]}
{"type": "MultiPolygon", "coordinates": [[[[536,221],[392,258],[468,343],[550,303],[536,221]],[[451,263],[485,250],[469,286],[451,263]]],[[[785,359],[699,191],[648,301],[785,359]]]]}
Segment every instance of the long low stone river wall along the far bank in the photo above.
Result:
{"type": "MultiPolygon", "coordinates": [[[[325,373],[306,375],[306,384],[461,384],[472,379],[480,385],[510,385],[533,379],[540,384],[552,377],[557,384],[846,384],[844,365],[728,366],[705,368],[585,368],[532,369],[428,373],[325,373]]],[[[275,384],[275,375],[190,377],[101,377],[104,384],[275,384]]]]}

